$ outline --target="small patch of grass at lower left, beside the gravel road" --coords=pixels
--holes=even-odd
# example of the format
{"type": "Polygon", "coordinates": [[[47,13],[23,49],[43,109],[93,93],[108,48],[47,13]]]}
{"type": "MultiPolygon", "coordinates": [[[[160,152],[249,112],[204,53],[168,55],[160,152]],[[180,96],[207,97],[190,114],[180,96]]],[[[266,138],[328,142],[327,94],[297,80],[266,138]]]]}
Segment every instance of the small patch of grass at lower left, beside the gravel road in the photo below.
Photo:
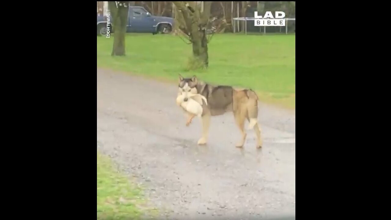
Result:
{"type": "Polygon", "coordinates": [[[109,157],[97,152],[97,219],[141,219],[156,215],[145,208],[142,189],[113,168],[109,157]]]}

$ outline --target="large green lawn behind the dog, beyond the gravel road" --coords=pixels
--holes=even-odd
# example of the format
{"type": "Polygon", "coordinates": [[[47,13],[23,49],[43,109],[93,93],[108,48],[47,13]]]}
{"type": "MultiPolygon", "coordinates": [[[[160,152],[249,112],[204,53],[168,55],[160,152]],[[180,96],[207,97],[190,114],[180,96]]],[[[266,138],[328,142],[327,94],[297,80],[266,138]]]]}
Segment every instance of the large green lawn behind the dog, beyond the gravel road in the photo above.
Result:
{"type": "Polygon", "coordinates": [[[178,36],[127,34],[125,57],[111,57],[113,36],[97,37],[97,67],[160,80],[196,75],[213,84],[256,90],[266,102],[295,108],[295,35],[216,34],[207,70],[187,71],[191,45],[178,36]]]}

